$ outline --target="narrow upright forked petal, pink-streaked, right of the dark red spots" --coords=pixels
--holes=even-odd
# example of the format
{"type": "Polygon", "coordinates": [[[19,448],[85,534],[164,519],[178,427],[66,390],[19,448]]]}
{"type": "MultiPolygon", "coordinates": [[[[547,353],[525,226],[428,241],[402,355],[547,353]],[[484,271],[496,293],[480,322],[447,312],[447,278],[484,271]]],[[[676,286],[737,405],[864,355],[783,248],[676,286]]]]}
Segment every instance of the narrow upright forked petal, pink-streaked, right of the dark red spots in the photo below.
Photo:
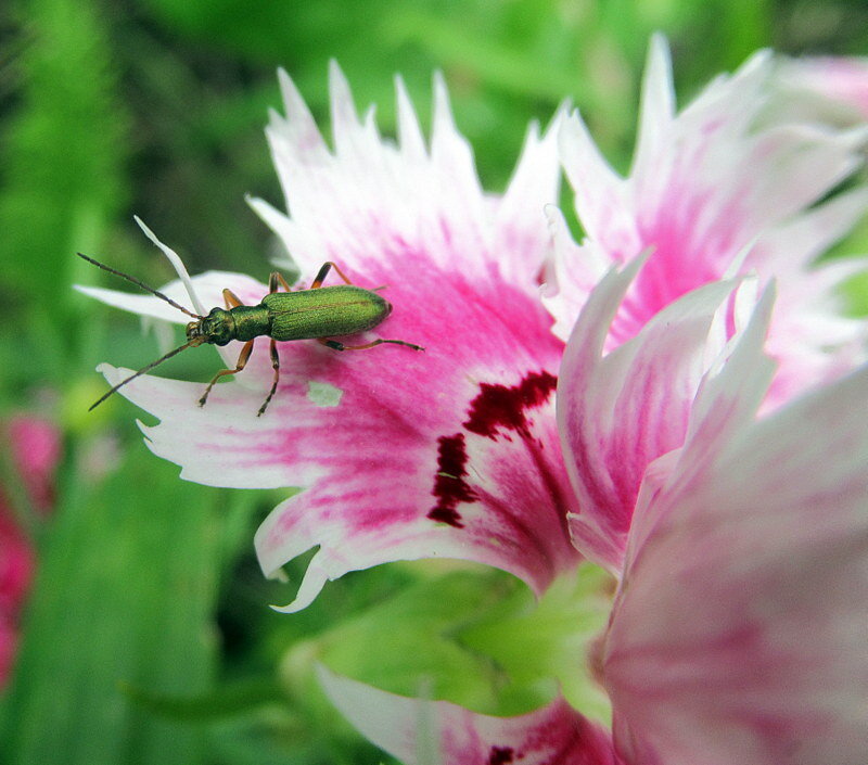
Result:
{"type": "Polygon", "coordinates": [[[602,356],[609,324],[641,265],[612,272],[591,293],[564,353],[558,418],[579,511],[573,541],[621,571],[639,486],[658,457],[684,444],[707,358],[723,350],[712,321],[732,284],[709,284],[602,356]]]}

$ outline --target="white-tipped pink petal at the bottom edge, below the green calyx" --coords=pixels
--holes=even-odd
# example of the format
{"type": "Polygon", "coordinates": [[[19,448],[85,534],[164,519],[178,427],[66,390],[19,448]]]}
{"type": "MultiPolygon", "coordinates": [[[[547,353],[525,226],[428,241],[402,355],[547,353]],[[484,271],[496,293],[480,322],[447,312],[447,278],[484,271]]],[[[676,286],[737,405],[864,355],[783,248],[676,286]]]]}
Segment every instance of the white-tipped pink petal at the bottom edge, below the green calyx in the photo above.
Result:
{"type": "Polygon", "coordinates": [[[324,668],[320,683],[358,730],[398,760],[437,765],[618,765],[611,735],[559,699],[519,717],[386,693],[324,668]]]}

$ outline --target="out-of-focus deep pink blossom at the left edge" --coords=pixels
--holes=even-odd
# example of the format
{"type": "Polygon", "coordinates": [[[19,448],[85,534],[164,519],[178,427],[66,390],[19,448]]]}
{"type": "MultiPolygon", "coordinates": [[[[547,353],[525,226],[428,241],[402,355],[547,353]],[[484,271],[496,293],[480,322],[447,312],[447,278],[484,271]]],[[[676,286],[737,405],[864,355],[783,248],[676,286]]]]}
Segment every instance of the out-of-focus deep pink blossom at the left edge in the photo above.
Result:
{"type": "MultiPolygon", "coordinates": [[[[54,500],[54,470],[61,456],[55,425],[33,416],[12,418],[5,428],[8,448],[27,499],[37,512],[54,500]]],[[[18,619],[35,566],[30,541],[17,524],[7,493],[0,488],[0,686],[9,677],[18,639],[18,619]]]]}

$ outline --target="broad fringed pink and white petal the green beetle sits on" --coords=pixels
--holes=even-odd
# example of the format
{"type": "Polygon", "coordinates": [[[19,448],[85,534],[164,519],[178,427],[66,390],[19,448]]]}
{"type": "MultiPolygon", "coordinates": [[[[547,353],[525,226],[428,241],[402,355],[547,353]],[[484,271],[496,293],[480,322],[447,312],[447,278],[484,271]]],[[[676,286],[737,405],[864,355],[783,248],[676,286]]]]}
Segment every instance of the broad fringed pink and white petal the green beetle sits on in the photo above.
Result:
{"type": "MultiPolygon", "coordinates": [[[[261,418],[267,341],[201,409],[202,383],[148,375],[122,392],[158,418],[142,426],[148,446],[180,464],[182,477],[304,488],[256,535],[268,574],[319,546],[286,610],[307,605],[329,578],[400,559],[481,561],[542,591],[579,558],[554,418],[563,342],[537,296],[550,253],[541,211],[558,194],[557,130],[540,137],[532,127],[507,191],[486,195],[439,80],[426,146],[400,84],[392,143],[370,113],[356,117],[343,76],[336,67],[331,75],[333,151],[281,75],[288,116],[272,115],[267,135],[291,216],[253,206],[295,257],[301,284],[326,260],[362,286],[386,284],[394,311],[378,333],[425,352],[282,343],[280,387],[261,418]]],[[[192,283],[206,306],[221,304],[222,288],[244,303],[266,292],[233,273],[192,283]]],[[[187,321],[155,297],[85,291],[187,321]]],[[[166,292],[187,301],[180,283],[166,292]]],[[[103,371],[110,383],[127,374],[103,371]]]]}

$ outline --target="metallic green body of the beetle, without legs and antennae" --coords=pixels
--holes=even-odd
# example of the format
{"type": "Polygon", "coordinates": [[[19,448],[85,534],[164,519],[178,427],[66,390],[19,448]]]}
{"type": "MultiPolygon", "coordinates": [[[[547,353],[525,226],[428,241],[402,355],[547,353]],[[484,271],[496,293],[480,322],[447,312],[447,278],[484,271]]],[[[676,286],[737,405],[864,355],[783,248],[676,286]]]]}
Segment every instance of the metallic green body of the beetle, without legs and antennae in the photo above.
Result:
{"type": "Polygon", "coordinates": [[[372,329],[390,313],[392,305],[375,292],[350,284],[272,292],[256,306],[212,309],[189,326],[188,337],[226,345],[260,335],[278,341],[341,336],[372,329]]]}

